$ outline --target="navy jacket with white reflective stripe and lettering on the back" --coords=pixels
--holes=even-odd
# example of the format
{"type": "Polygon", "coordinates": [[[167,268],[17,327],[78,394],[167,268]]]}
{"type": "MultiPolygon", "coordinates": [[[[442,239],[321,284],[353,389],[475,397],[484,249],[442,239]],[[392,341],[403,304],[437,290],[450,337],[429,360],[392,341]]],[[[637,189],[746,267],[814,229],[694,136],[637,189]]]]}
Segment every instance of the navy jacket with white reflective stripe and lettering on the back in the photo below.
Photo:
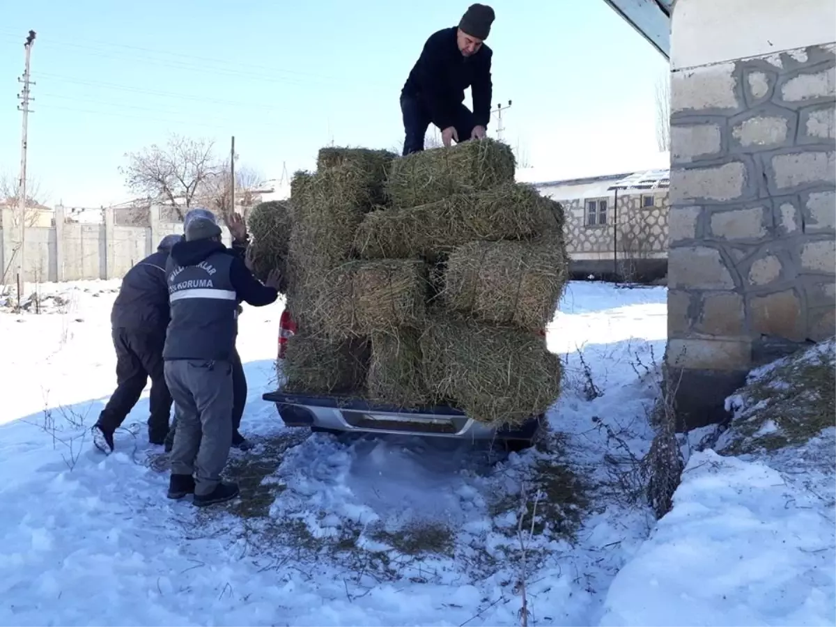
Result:
{"type": "Polygon", "coordinates": [[[236,252],[211,240],[176,243],[166,277],[171,322],[163,359],[168,360],[232,360],[238,303],[263,307],[278,298],[236,252]]]}

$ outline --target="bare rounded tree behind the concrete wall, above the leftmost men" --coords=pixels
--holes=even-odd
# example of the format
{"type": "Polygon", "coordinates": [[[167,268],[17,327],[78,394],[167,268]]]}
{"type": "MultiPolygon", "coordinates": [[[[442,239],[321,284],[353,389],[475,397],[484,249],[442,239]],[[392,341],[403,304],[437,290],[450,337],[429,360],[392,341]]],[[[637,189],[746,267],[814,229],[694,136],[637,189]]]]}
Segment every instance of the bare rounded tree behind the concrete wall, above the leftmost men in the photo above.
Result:
{"type": "Polygon", "coordinates": [[[120,172],[131,191],[165,200],[182,220],[201,185],[219,172],[214,147],[212,140],[171,135],[164,146],[126,154],[120,172]]]}

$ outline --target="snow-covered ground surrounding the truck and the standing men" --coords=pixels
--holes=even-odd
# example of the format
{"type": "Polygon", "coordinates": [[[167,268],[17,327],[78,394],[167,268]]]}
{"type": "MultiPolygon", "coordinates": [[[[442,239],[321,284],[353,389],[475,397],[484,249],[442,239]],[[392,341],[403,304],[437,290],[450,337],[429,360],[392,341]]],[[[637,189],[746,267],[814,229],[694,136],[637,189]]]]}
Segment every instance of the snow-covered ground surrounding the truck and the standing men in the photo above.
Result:
{"type": "Polygon", "coordinates": [[[118,284],[46,285],[42,314],[0,313],[4,627],[498,627],[523,598],[532,626],[836,624],[828,475],[814,489],[787,460],[694,452],[660,523],[631,497],[665,288],[570,285],[548,333],[563,396],[510,456],[283,428],[261,400],[282,306],[246,308],[257,446],[231,456],[242,499],[198,512],[166,499],[160,450],[130,428],[147,390],[115,454],[89,438],[115,385],[118,284]]]}

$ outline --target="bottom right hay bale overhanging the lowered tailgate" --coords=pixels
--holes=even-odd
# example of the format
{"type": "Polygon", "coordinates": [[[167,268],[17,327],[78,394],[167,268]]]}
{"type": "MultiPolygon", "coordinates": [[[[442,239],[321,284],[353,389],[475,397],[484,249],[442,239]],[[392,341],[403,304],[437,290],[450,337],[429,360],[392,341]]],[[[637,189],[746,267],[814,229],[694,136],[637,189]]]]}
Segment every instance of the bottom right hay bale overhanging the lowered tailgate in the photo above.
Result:
{"type": "Polygon", "coordinates": [[[560,359],[537,334],[435,315],[421,351],[431,395],[488,425],[520,425],[560,395],[560,359]]]}

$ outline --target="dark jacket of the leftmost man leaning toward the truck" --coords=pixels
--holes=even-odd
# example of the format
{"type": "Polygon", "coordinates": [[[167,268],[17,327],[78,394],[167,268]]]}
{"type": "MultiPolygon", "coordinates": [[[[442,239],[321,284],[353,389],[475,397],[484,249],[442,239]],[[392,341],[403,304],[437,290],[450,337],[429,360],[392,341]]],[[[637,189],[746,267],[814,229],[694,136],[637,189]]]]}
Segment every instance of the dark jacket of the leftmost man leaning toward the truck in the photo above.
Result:
{"type": "Polygon", "coordinates": [[[128,270],[110,311],[114,329],[165,334],[168,326],[166,262],[171,246],[161,242],[154,254],[128,270]]]}

